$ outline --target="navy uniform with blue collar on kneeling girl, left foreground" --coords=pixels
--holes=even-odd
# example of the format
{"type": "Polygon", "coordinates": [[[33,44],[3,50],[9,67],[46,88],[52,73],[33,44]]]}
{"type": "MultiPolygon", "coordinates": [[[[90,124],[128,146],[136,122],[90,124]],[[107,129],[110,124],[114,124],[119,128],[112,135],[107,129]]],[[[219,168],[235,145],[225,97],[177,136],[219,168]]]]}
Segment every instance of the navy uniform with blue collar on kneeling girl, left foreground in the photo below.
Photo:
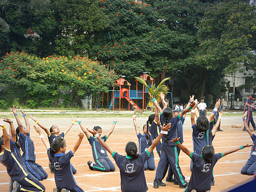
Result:
{"type": "Polygon", "coordinates": [[[50,148],[48,148],[47,154],[52,166],[54,167],[54,179],[56,187],[60,190],[65,188],[71,192],[83,192],[83,189],[77,186],[72,172],[70,164],[70,159],[74,156],[72,150],[70,150],[67,154],[60,153],[52,156],[50,153],[50,148]]]}

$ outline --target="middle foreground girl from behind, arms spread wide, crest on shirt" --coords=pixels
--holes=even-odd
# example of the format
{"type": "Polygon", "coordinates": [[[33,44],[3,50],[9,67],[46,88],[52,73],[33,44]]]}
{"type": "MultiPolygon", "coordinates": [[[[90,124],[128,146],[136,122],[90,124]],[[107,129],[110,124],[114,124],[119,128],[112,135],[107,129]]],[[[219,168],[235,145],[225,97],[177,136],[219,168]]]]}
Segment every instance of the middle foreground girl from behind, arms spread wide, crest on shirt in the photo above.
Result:
{"type": "MultiPolygon", "coordinates": [[[[170,124],[162,127],[162,131],[166,131],[170,128],[170,124]]],[[[87,129],[88,130],[88,129],[87,129]]],[[[125,152],[127,156],[122,156],[115,152],[112,148],[99,137],[99,134],[94,130],[88,130],[93,134],[93,137],[97,138],[100,144],[108,150],[109,154],[115,159],[116,165],[120,170],[121,177],[121,191],[125,192],[145,192],[148,190],[144,164],[147,158],[150,156],[150,153],[154,150],[157,143],[163,136],[161,131],[156,140],[150,145],[150,147],[145,150],[142,154],[137,154],[138,149],[136,143],[130,141],[125,147],[125,152]]]]}

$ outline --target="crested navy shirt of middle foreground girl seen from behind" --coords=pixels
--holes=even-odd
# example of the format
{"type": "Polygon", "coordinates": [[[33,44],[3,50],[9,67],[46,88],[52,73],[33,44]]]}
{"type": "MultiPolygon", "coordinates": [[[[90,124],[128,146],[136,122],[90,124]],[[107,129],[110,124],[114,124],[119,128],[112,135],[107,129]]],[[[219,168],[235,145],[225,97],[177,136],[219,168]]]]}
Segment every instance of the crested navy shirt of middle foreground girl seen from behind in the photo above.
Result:
{"type": "Polygon", "coordinates": [[[148,190],[144,164],[149,156],[148,150],[140,154],[136,159],[113,152],[112,157],[120,169],[121,191],[145,192],[148,190]]]}

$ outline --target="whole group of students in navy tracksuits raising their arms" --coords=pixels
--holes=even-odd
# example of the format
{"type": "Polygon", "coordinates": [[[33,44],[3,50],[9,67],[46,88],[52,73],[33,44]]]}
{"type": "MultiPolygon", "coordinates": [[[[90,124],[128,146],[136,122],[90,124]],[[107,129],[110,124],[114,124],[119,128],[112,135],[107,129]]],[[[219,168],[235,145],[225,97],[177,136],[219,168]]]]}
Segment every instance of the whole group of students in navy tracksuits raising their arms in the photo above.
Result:
{"type": "MultiPolygon", "coordinates": [[[[253,144],[241,145],[240,147],[214,154],[212,140],[214,139],[218,124],[220,124],[220,119],[223,115],[221,111],[216,126],[214,127],[214,116],[220,106],[220,100],[216,102],[211,115],[203,116],[198,113],[198,109],[196,108],[198,101],[194,99],[194,95],[190,97],[182,113],[172,111],[171,108],[167,107],[163,93],[161,93],[163,109],[152,95],[150,95],[150,99],[156,106],[156,112],[148,117],[147,124],[143,126],[142,134],[139,132],[138,125],[136,124],[136,115],[132,116],[139,141],[139,150],[136,143],[130,141],[125,147],[127,156],[118,154],[105,142],[115,129],[117,120],[113,121],[110,131],[101,137],[101,127],[95,126],[93,129],[85,129],[82,122],[77,118],[72,117],[72,123],[68,125],[65,132],[60,133],[60,129],[56,125],[53,125],[48,130],[36,120],[35,116],[30,116],[35,121],[35,124],[39,126],[34,125],[33,127],[35,131],[38,132],[40,139],[45,145],[49,157],[49,167],[51,172],[54,172],[56,188],[54,188],[53,191],[83,191],[74,179],[74,174],[77,170],[70,163],[70,159],[74,156],[83,141],[84,134],[92,146],[94,162],[88,161],[90,170],[102,172],[115,171],[115,165],[109,159],[108,151],[113,159],[115,159],[115,163],[120,170],[122,191],[148,190],[145,170],[156,169],[153,152],[155,147],[160,160],[156,169],[154,188],[166,186],[162,180],[168,172],[166,181],[173,182],[179,185],[180,188],[185,188],[185,191],[209,191],[211,186],[214,185],[212,170],[218,159],[232,152],[236,152],[237,150],[241,150],[244,147],[252,146],[252,152],[241,173],[248,175],[255,173],[256,136],[250,131],[246,124],[246,120],[244,119],[246,114],[243,115],[243,122],[246,131],[248,131],[252,137],[253,144]],[[193,129],[193,152],[182,145],[183,123],[186,113],[190,110],[193,129]],[[196,122],[195,115],[197,118],[196,122]],[[72,150],[66,153],[67,143],[64,137],[75,122],[78,122],[83,132],[78,134],[78,140],[72,150]],[[47,133],[48,141],[42,134],[42,130],[47,133]],[[191,177],[189,182],[186,182],[180,170],[180,149],[191,158],[191,177]],[[250,174],[248,170],[250,170],[250,174]]],[[[30,124],[26,113],[20,108],[20,112],[24,116],[26,123],[25,127],[21,124],[14,106],[12,111],[19,127],[15,130],[12,120],[4,118],[4,122],[10,124],[10,134],[8,134],[6,126],[0,124],[3,129],[3,136],[0,138],[0,163],[6,166],[8,175],[10,175],[11,178],[9,191],[45,191],[45,187],[40,180],[47,179],[48,175],[42,166],[36,163],[35,146],[30,138],[30,124]],[[20,154],[20,148],[23,152],[22,156],[20,154]]]]}

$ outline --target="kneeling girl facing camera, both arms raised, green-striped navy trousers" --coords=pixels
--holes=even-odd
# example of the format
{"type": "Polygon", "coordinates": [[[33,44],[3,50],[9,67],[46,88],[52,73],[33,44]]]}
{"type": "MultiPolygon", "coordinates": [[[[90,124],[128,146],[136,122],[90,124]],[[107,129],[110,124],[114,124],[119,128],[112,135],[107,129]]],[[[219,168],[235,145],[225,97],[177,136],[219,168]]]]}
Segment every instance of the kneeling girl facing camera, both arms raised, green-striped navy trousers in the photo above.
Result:
{"type": "MultiPolygon", "coordinates": [[[[117,120],[114,120],[110,131],[101,138],[105,142],[106,140],[108,140],[109,136],[114,131],[116,122],[117,120]]],[[[93,159],[95,163],[93,163],[92,161],[87,162],[90,170],[100,171],[100,172],[114,172],[116,168],[115,168],[115,165],[112,163],[112,161],[109,159],[106,148],[104,148],[100,144],[97,138],[90,136],[89,132],[86,131],[86,129],[84,129],[83,125],[81,124],[81,121],[79,121],[78,124],[80,125],[83,132],[86,134],[86,137],[90,145],[92,146],[92,154],[93,154],[93,159]]],[[[98,132],[99,136],[101,136],[102,129],[100,126],[95,126],[93,127],[93,129],[98,132]]]]}

